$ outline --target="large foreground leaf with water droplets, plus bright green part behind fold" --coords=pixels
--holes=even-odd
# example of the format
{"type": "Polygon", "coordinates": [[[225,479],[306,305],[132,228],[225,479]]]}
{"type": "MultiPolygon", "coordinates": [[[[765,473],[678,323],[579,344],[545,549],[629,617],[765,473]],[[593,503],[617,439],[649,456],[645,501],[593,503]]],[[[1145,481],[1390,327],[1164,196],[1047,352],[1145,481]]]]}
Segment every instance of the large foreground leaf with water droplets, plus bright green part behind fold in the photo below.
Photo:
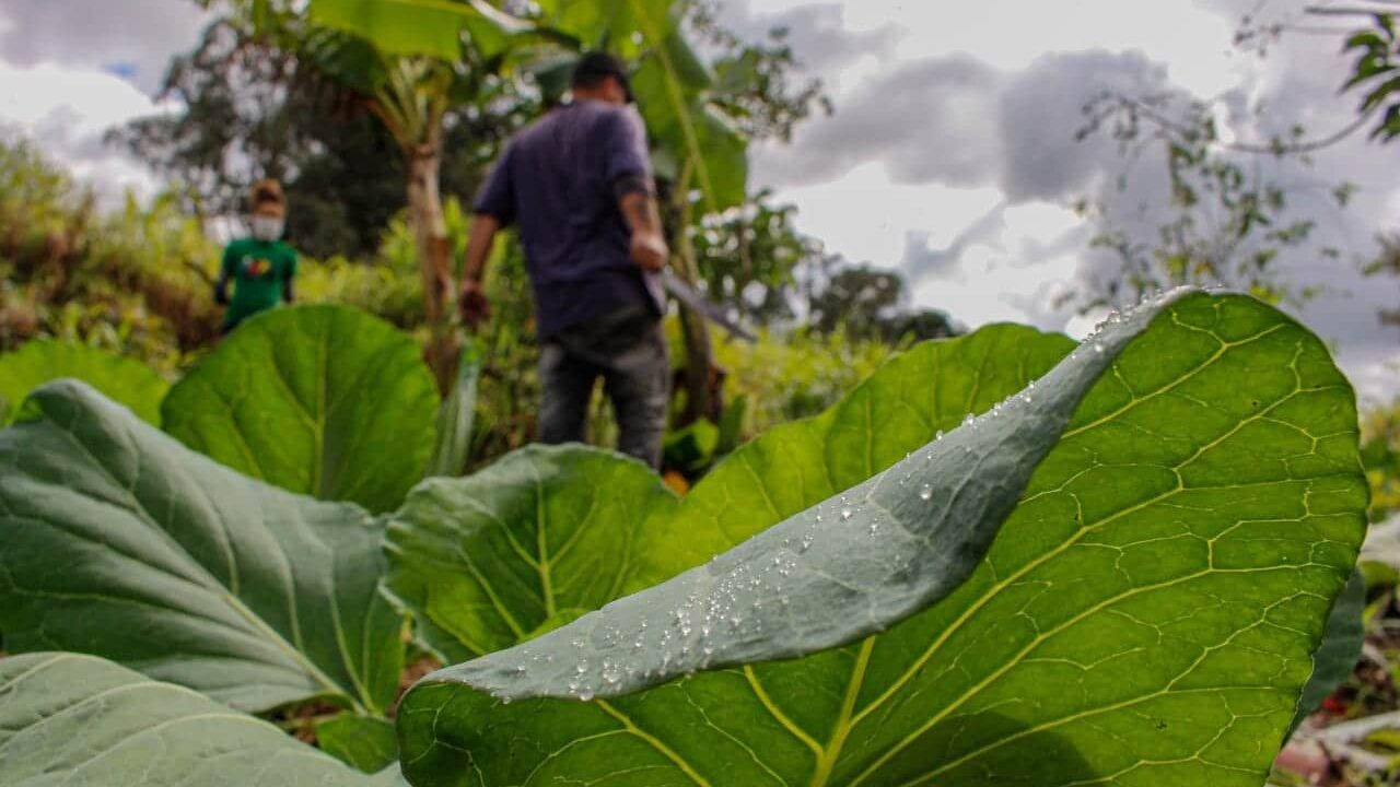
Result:
{"type": "Polygon", "coordinates": [[[675,578],[410,690],[407,776],[1256,787],[1365,528],[1354,396],[1254,300],[1151,314],[927,448],[1067,347],[932,344],[742,448],[645,522],[675,578]]]}

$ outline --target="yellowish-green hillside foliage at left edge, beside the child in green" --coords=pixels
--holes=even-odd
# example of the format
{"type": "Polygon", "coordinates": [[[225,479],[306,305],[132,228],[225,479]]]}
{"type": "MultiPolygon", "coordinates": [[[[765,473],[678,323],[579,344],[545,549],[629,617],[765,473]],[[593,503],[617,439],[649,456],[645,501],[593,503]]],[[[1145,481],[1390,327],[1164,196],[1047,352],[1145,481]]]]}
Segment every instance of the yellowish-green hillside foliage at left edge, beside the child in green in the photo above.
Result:
{"type": "Polygon", "coordinates": [[[217,335],[216,265],[174,200],[101,213],[31,143],[0,140],[0,349],[57,337],[171,375],[217,335]]]}

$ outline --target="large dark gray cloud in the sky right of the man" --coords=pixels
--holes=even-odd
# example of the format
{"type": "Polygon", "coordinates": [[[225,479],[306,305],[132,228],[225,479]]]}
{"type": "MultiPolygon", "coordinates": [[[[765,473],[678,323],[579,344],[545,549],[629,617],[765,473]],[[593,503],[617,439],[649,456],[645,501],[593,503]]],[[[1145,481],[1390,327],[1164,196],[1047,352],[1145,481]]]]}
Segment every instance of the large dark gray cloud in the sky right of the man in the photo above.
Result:
{"type": "Polygon", "coordinates": [[[1166,70],[1137,52],[1047,55],[1011,74],[966,55],[899,64],[839,97],[836,115],[769,148],[759,179],[795,186],[879,161],[900,183],[995,186],[1012,203],[1064,200],[1102,178],[1106,140],[1079,143],[1082,108],[1103,90],[1145,92],[1166,70]]]}

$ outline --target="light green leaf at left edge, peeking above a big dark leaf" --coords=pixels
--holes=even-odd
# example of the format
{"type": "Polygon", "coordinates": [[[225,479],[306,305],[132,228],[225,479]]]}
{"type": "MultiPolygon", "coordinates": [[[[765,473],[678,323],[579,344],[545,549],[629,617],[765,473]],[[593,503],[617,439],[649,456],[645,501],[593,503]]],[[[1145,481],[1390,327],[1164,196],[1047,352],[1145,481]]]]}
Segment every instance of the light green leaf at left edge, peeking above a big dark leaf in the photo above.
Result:
{"type": "Polygon", "coordinates": [[[0,356],[0,426],[20,415],[31,391],[64,377],[87,382],[146,423],[161,423],[161,399],[169,384],[150,367],[85,344],[45,340],[0,356]]]}

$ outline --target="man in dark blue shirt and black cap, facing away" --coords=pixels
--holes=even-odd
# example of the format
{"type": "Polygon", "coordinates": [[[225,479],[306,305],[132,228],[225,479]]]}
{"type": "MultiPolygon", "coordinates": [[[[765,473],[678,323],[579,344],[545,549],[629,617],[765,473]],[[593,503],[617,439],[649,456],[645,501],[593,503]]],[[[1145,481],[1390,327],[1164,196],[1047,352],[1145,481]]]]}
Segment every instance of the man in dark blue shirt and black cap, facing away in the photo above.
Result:
{"type": "Polygon", "coordinates": [[[507,144],[482,188],[458,305],[470,326],[489,316],[486,260],[496,232],[515,224],[539,326],[540,443],[582,441],[602,378],[617,448],[655,468],[671,382],[657,273],[669,251],[647,130],[615,57],[585,55],[571,90],[573,102],[507,144]]]}

